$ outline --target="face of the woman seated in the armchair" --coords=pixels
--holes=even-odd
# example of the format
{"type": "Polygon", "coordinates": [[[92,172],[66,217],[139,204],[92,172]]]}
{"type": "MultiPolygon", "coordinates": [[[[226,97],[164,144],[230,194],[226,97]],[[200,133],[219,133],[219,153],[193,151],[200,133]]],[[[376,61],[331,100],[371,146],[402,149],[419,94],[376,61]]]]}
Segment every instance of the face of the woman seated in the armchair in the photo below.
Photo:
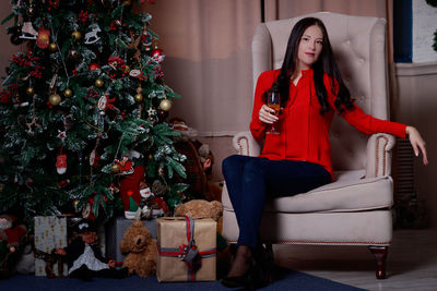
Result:
{"type": "Polygon", "coordinates": [[[317,25],[308,26],[302,35],[297,50],[297,70],[308,70],[323,48],[323,33],[317,25]]]}

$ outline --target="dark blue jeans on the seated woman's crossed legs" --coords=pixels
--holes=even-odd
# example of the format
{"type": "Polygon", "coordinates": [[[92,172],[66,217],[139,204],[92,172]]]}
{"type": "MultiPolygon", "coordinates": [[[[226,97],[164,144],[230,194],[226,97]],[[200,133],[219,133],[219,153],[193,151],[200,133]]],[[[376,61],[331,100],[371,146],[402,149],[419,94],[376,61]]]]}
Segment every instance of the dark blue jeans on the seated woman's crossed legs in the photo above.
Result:
{"type": "Polygon", "coordinates": [[[234,155],[222,167],[239,227],[238,244],[252,250],[267,197],[293,196],[331,182],[323,167],[308,161],[234,155]]]}

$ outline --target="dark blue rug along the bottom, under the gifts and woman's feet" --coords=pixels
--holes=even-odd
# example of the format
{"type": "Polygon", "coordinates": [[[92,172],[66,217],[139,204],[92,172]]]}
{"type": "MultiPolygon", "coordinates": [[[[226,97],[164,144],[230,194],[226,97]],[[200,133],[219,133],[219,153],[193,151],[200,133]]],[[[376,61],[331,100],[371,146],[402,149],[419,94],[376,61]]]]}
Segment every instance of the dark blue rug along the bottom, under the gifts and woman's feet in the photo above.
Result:
{"type": "MultiPolygon", "coordinates": [[[[364,290],[295,270],[279,269],[276,280],[260,290],[274,291],[311,291],[311,290],[364,290]]],[[[194,290],[235,290],[224,288],[220,281],[214,282],[165,282],[158,283],[156,277],[140,278],[131,276],[127,279],[94,278],[91,282],[79,279],[48,279],[33,275],[16,275],[11,279],[0,280],[2,291],[117,291],[117,290],[163,290],[163,291],[194,291],[194,290]]]]}

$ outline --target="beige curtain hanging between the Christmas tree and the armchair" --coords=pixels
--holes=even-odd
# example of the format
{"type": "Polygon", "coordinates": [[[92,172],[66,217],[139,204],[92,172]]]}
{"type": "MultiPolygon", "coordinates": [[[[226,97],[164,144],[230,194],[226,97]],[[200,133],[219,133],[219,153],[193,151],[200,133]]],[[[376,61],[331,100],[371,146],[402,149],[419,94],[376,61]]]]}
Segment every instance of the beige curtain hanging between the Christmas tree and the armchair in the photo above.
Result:
{"type": "Polygon", "coordinates": [[[248,130],[252,81],[250,44],[260,22],[253,0],[157,0],[143,5],[166,53],[165,81],[181,99],[179,117],[200,135],[248,130]]]}

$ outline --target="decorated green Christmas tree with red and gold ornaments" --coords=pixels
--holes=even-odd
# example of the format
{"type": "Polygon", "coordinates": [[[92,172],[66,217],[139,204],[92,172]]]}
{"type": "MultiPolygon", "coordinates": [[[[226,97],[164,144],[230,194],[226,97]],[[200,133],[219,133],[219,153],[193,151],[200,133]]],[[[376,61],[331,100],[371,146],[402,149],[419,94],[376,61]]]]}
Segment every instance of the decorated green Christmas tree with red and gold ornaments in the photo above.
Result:
{"type": "Polygon", "coordinates": [[[0,213],[107,220],[120,195],[129,204],[152,184],[170,209],[180,203],[186,157],[165,122],[179,96],[164,83],[152,16],[129,0],[11,4],[2,24],[13,22],[22,52],[0,97],[0,213]]]}

